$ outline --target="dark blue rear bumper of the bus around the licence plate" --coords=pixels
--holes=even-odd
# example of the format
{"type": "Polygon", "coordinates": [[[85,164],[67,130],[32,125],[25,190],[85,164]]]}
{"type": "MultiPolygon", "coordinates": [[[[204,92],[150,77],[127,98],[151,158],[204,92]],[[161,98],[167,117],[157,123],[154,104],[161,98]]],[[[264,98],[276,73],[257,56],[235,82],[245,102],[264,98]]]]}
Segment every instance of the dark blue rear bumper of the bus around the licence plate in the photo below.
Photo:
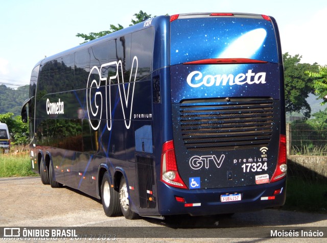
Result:
{"type": "Polygon", "coordinates": [[[158,184],[160,215],[215,215],[224,213],[259,211],[265,208],[282,206],[286,198],[286,178],[268,184],[219,188],[219,189],[177,189],[162,182],[158,184]],[[282,189],[273,195],[275,190],[282,189]],[[222,194],[241,193],[242,200],[220,201],[222,194]],[[185,203],[177,202],[175,196],[183,197],[185,203]]]}

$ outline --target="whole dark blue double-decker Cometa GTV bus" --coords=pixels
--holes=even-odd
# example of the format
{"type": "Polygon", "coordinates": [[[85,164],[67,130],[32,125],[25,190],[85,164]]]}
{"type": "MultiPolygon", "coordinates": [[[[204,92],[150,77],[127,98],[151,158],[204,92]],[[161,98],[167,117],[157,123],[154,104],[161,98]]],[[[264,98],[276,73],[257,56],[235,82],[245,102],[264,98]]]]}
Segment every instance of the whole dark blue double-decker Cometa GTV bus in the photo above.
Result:
{"type": "Polygon", "coordinates": [[[284,68],[273,17],[158,16],[39,61],[22,119],[43,184],[105,214],[282,206],[284,68]]]}

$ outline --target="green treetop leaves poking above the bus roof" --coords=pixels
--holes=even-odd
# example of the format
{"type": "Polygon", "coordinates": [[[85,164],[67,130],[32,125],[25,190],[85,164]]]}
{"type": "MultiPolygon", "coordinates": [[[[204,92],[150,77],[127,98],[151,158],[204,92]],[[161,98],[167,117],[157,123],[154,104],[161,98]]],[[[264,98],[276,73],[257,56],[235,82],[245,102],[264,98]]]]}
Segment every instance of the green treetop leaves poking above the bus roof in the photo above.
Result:
{"type": "MultiPolygon", "coordinates": [[[[151,18],[151,14],[147,14],[146,12],[143,12],[142,10],[140,10],[138,13],[135,13],[133,16],[136,17],[136,20],[132,19],[132,24],[130,24],[129,26],[132,25],[136,25],[138,23],[141,23],[145,20],[147,20],[148,18],[151,18]]],[[[110,34],[112,32],[118,31],[124,29],[124,27],[120,24],[118,24],[118,26],[115,25],[110,25],[110,29],[109,30],[105,30],[105,31],[100,31],[100,32],[90,32],[89,34],[83,34],[83,33],[77,33],[77,37],[82,37],[84,39],[84,42],[82,42],[81,44],[88,42],[90,40],[94,40],[97,39],[99,37],[105,36],[107,34],[110,34]]]]}

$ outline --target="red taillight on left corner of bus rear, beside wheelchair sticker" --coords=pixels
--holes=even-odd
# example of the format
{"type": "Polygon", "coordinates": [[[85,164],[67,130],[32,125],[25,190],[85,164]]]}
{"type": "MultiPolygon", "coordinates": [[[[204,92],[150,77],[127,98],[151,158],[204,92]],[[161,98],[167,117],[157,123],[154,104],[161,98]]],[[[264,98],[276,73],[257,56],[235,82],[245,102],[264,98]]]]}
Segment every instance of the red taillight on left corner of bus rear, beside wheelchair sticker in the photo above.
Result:
{"type": "Polygon", "coordinates": [[[188,188],[178,173],[173,140],[162,145],[161,181],[172,187],[188,188]]]}

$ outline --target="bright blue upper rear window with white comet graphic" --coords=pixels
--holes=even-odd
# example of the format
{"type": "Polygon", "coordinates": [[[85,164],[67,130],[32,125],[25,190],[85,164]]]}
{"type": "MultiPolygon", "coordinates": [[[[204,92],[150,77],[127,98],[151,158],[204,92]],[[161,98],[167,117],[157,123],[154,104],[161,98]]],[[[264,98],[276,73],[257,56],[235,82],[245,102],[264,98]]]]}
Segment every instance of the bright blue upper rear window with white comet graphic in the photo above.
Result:
{"type": "Polygon", "coordinates": [[[171,65],[209,58],[277,63],[272,23],[240,17],[188,18],[171,23],[171,65]]]}

